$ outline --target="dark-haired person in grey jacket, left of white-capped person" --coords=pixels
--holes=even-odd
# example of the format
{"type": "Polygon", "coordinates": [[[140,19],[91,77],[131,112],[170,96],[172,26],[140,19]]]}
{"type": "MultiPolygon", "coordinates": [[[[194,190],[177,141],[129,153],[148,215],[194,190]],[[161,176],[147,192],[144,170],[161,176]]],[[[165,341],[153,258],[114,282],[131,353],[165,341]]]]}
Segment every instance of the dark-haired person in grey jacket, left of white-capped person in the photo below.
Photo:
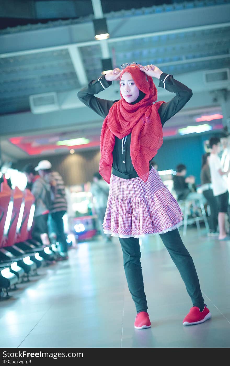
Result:
{"type": "Polygon", "coordinates": [[[50,188],[49,184],[43,178],[36,175],[33,165],[27,164],[22,169],[28,180],[27,188],[35,198],[35,211],[33,226],[31,228],[32,239],[41,242],[44,245],[49,245],[48,235],[48,214],[50,206],[50,188]]]}

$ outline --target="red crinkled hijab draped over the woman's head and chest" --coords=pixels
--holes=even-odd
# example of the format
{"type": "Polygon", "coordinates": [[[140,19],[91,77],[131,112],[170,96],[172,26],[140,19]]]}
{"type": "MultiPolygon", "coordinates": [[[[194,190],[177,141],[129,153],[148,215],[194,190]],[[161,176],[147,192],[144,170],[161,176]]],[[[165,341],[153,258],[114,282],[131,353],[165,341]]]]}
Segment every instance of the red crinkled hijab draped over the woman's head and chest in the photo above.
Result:
{"type": "MultiPolygon", "coordinates": [[[[136,104],[124,100],[114,103],[106,116],[101,130],[101,160],[99,173],[106,182],[110,182],[113,164],[113,148],[115,136],[119,139],[131,132],[130,156],[133,167],[138,176],[146,182],[149,175],[149,162],[157,154],[163,143],[163,132],[158,109],[163,101],[157,100],[157,88],[150,76],[140,71],[138,66],[126,67],[139,90],[143,91],[144,98],[136,104]]],[[[121,77],[120,77],[121,79],[121,77]]]]}

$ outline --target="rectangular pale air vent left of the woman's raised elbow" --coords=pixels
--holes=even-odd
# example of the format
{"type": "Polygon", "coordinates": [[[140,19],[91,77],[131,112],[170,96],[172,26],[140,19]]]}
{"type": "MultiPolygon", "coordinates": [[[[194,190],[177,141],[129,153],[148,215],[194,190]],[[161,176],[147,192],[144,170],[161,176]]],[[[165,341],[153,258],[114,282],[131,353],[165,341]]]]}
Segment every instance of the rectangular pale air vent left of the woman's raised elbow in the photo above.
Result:
{"type": "Polygon", "coordinates": [[[57,93],[35,94],[30,96],[30,109],[34,114],[58,111],[57,93]]]}

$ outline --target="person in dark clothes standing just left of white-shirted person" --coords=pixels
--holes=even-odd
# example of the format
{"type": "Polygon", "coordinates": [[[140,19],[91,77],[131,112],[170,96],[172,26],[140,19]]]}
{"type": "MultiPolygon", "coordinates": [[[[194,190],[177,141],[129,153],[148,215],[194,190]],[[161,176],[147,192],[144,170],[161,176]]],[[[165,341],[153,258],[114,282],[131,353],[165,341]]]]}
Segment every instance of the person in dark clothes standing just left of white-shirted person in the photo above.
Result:
{"type": "Polygon", "coordinates": [[[204,197],[207,200],[208,205],[210,206],[210,216],[208,217],[208,224],[210,228],[210,235],[216,235],[217,226],[218,226],[218,207],[216,197],[214,197],[212,191],[212,183],[211,183],[211,173],[210,167],[208,164],[210,157],[210,153],[205,153],[202,155],[202,163],[201,163],[201,172],[200,172],[200,181],[201,181],[201,189],[204,197]]]}

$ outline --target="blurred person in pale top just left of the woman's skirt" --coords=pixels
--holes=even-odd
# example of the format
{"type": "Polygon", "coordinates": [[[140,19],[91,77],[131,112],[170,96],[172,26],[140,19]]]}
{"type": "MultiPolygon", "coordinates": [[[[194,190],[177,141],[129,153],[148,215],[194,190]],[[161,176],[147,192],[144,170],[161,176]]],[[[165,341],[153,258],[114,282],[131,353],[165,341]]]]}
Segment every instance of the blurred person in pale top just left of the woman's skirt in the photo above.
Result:
{"type": "Polygon", "coordinates": [[[112,240],[111,235],[105,234],[102,227],[109,197],[109,184],[105,182],[99,172],[94,173],[93,183],[91,184],[90,190],[93,195],[93,202],[98,217],[101,235],[107,242],[110,242],[112,240]]]}

